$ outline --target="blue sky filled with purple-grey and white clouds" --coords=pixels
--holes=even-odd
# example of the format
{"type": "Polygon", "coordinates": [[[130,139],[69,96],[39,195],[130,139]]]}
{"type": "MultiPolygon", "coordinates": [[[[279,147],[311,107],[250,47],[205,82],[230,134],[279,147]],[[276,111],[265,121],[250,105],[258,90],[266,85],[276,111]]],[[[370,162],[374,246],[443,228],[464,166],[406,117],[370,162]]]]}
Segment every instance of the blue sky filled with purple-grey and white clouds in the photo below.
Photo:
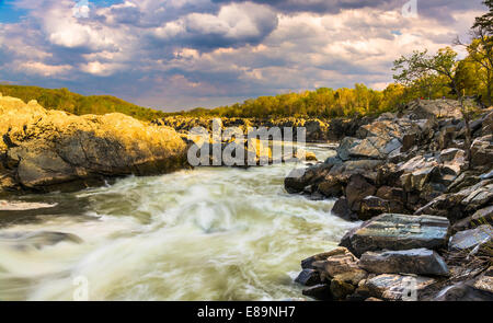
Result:
{"type": "Polygon", "coordinates": [[[481,0],[0,0],[0,82],[163,111],[381,90],[393,60],[467,41],[484,12],[481,0]]]}

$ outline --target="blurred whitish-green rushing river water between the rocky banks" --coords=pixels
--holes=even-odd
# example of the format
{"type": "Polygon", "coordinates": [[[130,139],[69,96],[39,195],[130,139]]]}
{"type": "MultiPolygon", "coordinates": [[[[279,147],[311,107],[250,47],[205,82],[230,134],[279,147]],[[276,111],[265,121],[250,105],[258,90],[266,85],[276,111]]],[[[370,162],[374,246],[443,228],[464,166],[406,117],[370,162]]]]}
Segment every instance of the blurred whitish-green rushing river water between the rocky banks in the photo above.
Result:
{"type": "Polygon", "coordinates": [[[200,168],[25,196],[58,205],[0,214],[0,300],[72,300],[80,277],[90,300],[300,298],[300,259],[335,247],[355,224],[331,215],[333,200],[288,195],[294,166],[200,168]],[[19,238],[26,232],[80,240],[19,238]]]}

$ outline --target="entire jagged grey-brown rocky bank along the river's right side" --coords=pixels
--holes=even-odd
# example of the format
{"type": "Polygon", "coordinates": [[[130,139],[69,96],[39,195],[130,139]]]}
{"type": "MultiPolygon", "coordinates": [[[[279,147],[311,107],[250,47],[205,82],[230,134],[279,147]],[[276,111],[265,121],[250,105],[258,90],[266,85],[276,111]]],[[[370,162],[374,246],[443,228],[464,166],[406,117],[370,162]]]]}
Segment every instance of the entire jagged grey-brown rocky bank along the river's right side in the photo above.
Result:
{"type": "Polygon", "coordinates": [[[416,101],[385,114],[343,138],[336,157],[286,177],[289,193],[337,198],[334,215],[365,221],[301,262],[306,296],[493,300],[493,109],[470,124],[469,162],[449,106],[416,101]]]}

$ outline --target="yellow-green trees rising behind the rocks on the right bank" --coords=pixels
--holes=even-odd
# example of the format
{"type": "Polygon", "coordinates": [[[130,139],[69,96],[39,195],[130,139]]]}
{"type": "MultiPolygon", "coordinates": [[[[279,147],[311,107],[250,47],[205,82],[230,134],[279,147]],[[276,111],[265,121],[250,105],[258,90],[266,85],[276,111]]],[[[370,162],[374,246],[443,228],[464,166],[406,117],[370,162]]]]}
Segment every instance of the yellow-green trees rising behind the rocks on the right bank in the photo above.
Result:
{"type": "MultiPolygon", "coordinates": [[[[175,114],[188,116],[273,117],[310,116],[343,117],[377,115],[395,111],[415,99],[474,97],[480,105],[492,105],[493,92],[493,0],[483,3],[489,12],[475,19],[467,43],[455,39],[450,45],[462,46],[467,57],[458,59],[452,47],[436,54],[415,50],[393,64],[394,83],[382,91],[355,84],[354,89],[321,88],[316,91],[261,96],[213,109],[195,108],[175,114]]],[[[466,108],[466,107],[465,107],[466,108]]]]}

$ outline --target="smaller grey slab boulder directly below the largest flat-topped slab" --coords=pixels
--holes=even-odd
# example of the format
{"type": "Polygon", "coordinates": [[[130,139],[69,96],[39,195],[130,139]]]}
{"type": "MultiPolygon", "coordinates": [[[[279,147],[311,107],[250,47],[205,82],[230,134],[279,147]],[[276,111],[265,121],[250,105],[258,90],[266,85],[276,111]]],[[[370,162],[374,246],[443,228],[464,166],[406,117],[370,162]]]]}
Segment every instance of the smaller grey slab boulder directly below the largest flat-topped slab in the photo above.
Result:
{"type": "Polygon", "coordinates": [[[359,258],[359,267],[375,274],[448,274],[445,261],[427,249],[366,252],[359,258]]]}

